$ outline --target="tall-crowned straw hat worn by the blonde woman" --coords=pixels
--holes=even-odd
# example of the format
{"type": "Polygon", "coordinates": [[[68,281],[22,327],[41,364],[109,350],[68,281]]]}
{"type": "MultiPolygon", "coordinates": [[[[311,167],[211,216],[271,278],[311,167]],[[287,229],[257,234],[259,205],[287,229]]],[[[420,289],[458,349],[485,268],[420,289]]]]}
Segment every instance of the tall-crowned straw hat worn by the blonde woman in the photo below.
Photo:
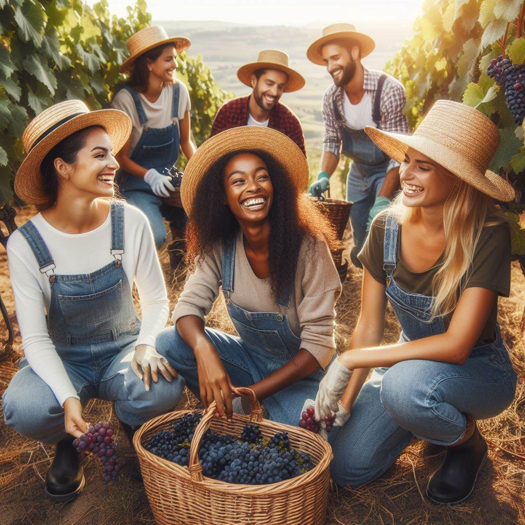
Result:
{"type": "Polygon", "coordinates": [[[438,100],[413,135],[364,130],[390,158],[403,162],[408,148],[428,156],[480,192],[512,201],[514,188],[488,167],[499,146],[498,128],[477,109],[438,100]]]}

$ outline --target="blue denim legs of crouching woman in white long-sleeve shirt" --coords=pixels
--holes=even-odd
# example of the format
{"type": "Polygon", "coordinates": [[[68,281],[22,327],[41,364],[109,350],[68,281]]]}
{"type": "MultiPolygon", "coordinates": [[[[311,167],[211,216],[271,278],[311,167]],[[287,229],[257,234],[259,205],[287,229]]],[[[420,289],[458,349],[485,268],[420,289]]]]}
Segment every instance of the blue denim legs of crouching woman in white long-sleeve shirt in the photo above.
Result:
{"type": "MultiPolygon", "coordinates": [[[[130,335],[127,339],[125,348],[109,358],[100,369],[79,366],[75,361],[63,362],[82,406],[92,398],[112,401],[120,421],[135,427],[152,417],[170,412],[180,399],[181,387],[180,380],[167,382],[161,376],[159,382],[152,382],[150,391],[146,392],[144,383],[131,368],[137,335],[130,335]]],[[[121,336],[118,344],[123,343],[124,337],[121,336]]],[[[81,358],[86,355],[108,355],[114,346],[116,342],[109,341],[70,345],[69,348],[81,358]]],[[[2,396],[7,426],[29,439],[48,445],[57,443],[66,435],[64,409],[51,388],[33,372],[25,358],[20,361],[19,368],[2,396]]]]}

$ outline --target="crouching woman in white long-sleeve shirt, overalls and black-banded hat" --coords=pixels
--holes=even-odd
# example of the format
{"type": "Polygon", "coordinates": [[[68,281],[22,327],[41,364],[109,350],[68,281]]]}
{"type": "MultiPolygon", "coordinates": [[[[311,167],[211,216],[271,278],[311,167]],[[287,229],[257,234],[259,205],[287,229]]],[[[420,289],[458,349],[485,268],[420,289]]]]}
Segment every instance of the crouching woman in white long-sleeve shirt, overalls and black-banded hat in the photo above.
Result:
{"type": "Polygon", "coordinates": [[[109,200],[113,153],[130,130],[122,111],[68,100],[40,113],[22,137],[27,156],[15,191],[40,213],[7,244],[25,358],[2,400],[8,426],[56,444],[46,475],[53,501],[83,488],[72,442],[88,428],[82,407],[91,398],[114,402],[130,438],[174,406],[176,372],[155,350],[169,303],[151,229],[137,208],[109,200]]]}

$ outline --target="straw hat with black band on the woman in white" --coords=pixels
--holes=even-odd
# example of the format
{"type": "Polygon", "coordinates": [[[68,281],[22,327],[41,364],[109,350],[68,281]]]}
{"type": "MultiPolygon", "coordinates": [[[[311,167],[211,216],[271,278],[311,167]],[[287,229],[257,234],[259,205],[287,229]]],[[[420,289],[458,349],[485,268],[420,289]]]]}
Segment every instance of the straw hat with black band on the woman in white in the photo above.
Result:
{"type": "Polygon", "coordinates": [[[30,204],[46,203],[47,196],[40,173],[44,157],[72,133],[93,125],[106,129],[113,144],[113,153],[122,148],[131,133],[131,119],[123,111],[89,111],[80,100],[54,104],[31,120],[22,135],[26,158],[16,172],[16,194],[30,204]]]}

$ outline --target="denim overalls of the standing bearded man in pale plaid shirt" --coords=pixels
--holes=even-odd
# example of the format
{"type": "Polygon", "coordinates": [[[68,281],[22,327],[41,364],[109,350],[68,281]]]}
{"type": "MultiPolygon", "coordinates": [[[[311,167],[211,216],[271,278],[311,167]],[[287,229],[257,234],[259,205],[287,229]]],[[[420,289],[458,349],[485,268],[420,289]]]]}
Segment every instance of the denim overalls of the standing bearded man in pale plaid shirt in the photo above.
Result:
{"type": "MultiPolygon", "coordinates": [[[[385,79],[386,76],[382,75],[377,81],[372,114],[376,125],[381,120],[380,102],[385,79]]],[[[346,97],[344,92],[343,97],[346,97]]],[[[335,97],[333,110],[335,120],[341,125],[341,151],[352,159],[346,177],[346,200],[353,202],[350,210],[352,236],[355,246],[361,248],[366,238],[366,220],[383,186],[390,158],[372,142],[364,130],[355,130],[346,125],[335,97]]]]}

